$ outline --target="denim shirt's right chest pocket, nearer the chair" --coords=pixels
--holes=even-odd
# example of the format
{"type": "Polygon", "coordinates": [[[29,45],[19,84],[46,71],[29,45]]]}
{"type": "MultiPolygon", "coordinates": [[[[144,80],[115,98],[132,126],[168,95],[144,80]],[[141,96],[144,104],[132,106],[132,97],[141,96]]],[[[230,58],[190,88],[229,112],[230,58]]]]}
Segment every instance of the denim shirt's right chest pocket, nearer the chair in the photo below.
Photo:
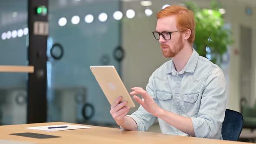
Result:
{"type": "Polygon", "coordinates": [[[192,92],[183,95],[184,107],[188,117],[198,114],[199,102],[197,102],[199,92],[192,92]]]}

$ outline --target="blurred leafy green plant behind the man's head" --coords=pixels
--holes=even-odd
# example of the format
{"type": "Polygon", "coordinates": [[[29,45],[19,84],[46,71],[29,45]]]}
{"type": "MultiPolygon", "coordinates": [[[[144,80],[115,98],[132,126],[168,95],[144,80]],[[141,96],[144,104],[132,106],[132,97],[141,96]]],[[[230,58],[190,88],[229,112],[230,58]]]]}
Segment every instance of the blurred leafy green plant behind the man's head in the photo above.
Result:
{"type": "Polygon", "coordinates": [[[233,43],[231,29],[225,27],[219,3],[211,2],[211,9],[201,9],[194,2],[186,2],[187,8],[194,12],[196,39],[194,49],[200,56],[220,65],[227,47],[233,43]]]}

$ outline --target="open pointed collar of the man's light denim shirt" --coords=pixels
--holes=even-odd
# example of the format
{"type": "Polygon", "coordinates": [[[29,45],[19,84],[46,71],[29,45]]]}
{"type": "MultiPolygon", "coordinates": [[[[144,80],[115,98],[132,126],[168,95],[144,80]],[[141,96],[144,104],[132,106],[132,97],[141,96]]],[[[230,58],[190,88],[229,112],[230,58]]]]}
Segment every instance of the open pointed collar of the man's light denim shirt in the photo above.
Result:
{"type": "MultiPolygon", "coordinates": [[[[197,53],[197,51],[193,49],[193,52],[192,52],[192,55],[190,56],[187,64],[185,65],[184,67],[184,72],[194,72],[195,68],[196,68],[196,65],[197,65],[197,61],[199,59],[199,54],[197,53]]],[[[173,72],[176,72],[175,70],[175,67],[174,67],[174,62],[173,60],[171,60],[171,66],[168,66],[167,68],[167,74],[169,73],[173,73],[173,72]]]]}

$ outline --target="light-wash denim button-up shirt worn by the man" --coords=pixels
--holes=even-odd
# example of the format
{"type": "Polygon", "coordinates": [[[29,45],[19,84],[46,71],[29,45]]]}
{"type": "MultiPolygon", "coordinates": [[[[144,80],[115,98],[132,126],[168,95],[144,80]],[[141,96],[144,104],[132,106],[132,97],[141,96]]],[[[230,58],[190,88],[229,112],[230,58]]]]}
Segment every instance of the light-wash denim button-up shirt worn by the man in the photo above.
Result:
{"type": "MultiPolygon", "coordinates": [[[[222,139],[225,85],[222,70],[193,49],[181,72],[175,70],[172,60],[165,62],[151,75],[146,90],[164,110],[191,118],[196,137],[222,139]]],[[[138,131],[146,131],[157,119],[142,106],[127,116],[135,120],[138,131]]],[[[158,122],[164,134],[188,136],[161,118],[158,122]]]]}

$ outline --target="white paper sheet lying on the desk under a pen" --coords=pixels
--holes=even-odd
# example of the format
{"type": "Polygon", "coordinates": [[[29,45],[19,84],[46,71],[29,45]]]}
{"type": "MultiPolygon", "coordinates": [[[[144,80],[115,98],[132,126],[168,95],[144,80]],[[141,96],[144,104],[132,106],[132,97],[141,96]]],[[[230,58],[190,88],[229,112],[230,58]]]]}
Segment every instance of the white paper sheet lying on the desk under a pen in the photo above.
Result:
{"type": "Polygon", "coordinates": [[[59,125],[46,125],[40,127],[30,127],[27,129],[32,130],[41,130],[41,131],[63,131],[63,130],[73,130],[73,129],[82,129],[82,128],[92,128],[92,127],[85,127],[81,125],[72,125],[72,124],[59,124],[59,125]],[[67,128],[50,128],[49,127],[62,127],[66,126],[67,128]]]}

